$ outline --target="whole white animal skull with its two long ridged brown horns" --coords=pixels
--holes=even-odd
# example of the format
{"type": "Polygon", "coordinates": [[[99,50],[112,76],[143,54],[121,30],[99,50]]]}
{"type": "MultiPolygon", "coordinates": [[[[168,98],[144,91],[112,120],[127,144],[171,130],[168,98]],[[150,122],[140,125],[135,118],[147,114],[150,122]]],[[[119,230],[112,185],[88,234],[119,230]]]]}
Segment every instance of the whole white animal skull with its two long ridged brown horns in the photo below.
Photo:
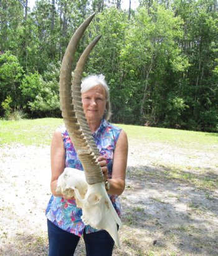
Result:
{"type": "Polygon", "coordinates": [[[117,224],[121,227],[121,220],[116,214],[105,189],[103,174],[97,161],[99,151],[83,113],[80,92],[85,62],[100,37],[93,40],[84,50],[77,62],[73,80],[71,75],[75,50],[93,16],[94,14],[88,17],[73,34],[60,69],[60,107],[62,116],[84,172],[73,168],[65,168],[64,173],[59,176],[56,192],[67,197],[74,196],[77,207],[82,208],[82,220],[85,225],[90,225],[95,229],[107,230],[115,240],[117,247],[120,248],[117,224]],[[70,95],[70,92],[72,92],[72,95],[70,95]]]}

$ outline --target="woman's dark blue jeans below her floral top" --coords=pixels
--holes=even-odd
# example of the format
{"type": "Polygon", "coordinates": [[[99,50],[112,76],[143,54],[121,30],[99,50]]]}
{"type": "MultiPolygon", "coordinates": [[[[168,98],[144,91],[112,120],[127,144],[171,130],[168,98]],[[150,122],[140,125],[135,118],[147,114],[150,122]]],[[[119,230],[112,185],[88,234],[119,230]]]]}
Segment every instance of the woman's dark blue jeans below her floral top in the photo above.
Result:
{"type": "MultiPolygon", "coordinates": [[[[49,256],[72,256],[80,237],[60,229],[47,220],[49,235],[49,256]]],[[[114,241],[106,230],[90,234],[83,232],[87,256],[111,256],[114,241]]]]}

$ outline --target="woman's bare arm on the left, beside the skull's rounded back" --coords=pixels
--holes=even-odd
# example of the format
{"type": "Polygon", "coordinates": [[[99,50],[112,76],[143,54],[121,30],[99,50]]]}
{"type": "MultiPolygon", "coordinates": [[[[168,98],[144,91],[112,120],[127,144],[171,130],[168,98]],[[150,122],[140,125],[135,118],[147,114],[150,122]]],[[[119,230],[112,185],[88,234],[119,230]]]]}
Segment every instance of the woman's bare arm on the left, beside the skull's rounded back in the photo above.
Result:
{"type": "Polygon", "coordinates": [[[59,130],[54,132],[52,143],[50,146],[50,161],[52,169],[52,178],[50,181],[50,190],[54,196],[62,197],[62,194],[57,194],[55,190],[57,189],[57,179],[60,174],[63,173],[65,168],[65,148],[64,142],[62,140],[62,135],[59,130]]]}

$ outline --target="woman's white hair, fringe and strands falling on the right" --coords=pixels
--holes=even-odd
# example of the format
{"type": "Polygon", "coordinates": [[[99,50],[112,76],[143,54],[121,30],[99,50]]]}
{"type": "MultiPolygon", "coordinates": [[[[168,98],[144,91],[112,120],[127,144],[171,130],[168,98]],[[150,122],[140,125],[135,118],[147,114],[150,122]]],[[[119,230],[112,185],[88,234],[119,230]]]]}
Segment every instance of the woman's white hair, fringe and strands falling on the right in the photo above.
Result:
{"type": "Polygon", "coordinates": [[[107,82],[105,81],[105,76],[100,75],[89,75],[88,77],[83,78],[81,83],[81,93],[87,92],[88,90],[92,89],[93,87],[97,85],[102,85],[105,89],[105,95],[106,95],[106,107],[105,107],[105,113],[103,115],[103,118],[105,120],[109,120],[111,116],[111,110],[110,110],[110,93],[109,93],[109,87],[107,85],[107,82]]]}

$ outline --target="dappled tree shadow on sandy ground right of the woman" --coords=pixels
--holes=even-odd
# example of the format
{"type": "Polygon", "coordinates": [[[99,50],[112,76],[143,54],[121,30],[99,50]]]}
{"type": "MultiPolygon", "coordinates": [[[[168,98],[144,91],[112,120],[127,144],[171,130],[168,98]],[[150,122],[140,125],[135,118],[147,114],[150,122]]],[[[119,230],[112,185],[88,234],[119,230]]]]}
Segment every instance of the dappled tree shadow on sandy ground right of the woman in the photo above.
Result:
{"type": "Polygon", "coordinates": [[[178,170],[175,176],[167,166],[129,167],[121,195],[122,243],[128,249],[115,255],[217,255],[216,189],[212,169],[178,170]]]}

